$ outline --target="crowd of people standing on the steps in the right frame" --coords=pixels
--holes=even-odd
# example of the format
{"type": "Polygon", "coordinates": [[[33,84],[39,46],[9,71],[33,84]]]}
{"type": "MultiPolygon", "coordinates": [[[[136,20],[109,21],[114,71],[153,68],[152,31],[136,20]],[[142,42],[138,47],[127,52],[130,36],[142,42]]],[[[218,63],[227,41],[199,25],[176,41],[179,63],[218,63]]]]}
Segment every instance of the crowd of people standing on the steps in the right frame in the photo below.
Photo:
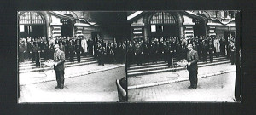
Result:
{"type": "Polygon", "coordinates": [[[204,62],[207,62],[207,58],[213,62],[213,56],[224,55],[231,60],[232,65],[236,64],[234,37],[228,37],[228,40],[223,37],[169,37],[153,38],[151,41],[128,41],[128,66],[131,63],[142,65],[142,63],[164,60],[168,62],[168,67],[172,67],[174,57],[178,60],[186,59],[188,44],[192,44],[193,49],[204,62]]]}

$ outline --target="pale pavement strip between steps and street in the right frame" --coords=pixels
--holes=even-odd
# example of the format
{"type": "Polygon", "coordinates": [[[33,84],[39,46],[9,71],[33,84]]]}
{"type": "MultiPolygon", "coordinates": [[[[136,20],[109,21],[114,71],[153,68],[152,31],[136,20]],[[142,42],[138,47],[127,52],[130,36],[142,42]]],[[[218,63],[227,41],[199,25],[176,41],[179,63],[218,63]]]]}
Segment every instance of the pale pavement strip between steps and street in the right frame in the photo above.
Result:
{"type": "MultiPolygon", "coordinates": [[[[236,72],[236,65],[220,64],[215,66],[203,66],[198,68],[198,78],[207,78],[227,72],[236,72]]],[[[189,72],[180,70],[177,72],[161,72],[150,75],[128,77],[128,89],[147,88],[167,83],[189,81],[189,72]]]]}

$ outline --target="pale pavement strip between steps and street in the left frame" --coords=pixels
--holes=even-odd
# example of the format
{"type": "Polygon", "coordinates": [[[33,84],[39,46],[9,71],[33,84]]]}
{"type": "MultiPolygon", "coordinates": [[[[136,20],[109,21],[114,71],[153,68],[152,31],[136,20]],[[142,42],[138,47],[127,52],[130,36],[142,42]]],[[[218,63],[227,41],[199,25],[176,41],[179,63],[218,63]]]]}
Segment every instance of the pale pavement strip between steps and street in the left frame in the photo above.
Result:
{"type": "MultiPolygon", "coordinates": [[[[90,64],[84,66],[73,66],[65,68],[65,78],[74,78],[84,76],[96,72],[108,71],[111,69],[125,66],[124,64],[105,64],[104,66],[98,66],[97,64],[90,64]]],[[[19,74],[20,86],[33,83],[44,83],[55,81],[55,71],[45,70],[44,72],[26,72],[19,74]]]]}

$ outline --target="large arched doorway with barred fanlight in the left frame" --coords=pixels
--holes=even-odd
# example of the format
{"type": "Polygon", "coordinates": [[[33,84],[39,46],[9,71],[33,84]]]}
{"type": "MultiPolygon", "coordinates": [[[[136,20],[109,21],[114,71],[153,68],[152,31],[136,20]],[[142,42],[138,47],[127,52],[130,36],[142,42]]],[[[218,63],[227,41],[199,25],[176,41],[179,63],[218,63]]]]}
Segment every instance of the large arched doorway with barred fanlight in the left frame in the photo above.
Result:
{"type": "Polygon", "coordinates": [[[20,14],[19,37],[46,37],[44,16],[38,12],[24,12],[20,14]]]}

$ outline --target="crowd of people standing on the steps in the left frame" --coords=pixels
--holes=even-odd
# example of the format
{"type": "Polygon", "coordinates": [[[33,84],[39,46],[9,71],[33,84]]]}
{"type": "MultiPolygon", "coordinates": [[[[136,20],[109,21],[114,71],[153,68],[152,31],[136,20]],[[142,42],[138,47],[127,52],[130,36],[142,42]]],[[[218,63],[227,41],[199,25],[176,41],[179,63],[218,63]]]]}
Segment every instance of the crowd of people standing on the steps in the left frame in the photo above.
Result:
{"type": "Polygon", "coordinates": [[[99,65],[104,65],[105,62],[125,62],[124,42],[104,43],[102,39],[92,40],[90,37],[20,38],[19,61],[24,62],[25,59],[31,59],[37,67],[40,67],[41,58],[53,59],[55,44],[59,44],[60,49],[65,52],[66,59],[71,62],[74,62],[74,58],[80,62],[81,56],[85,57],[86,55],[93,55],[99,65]]]}

